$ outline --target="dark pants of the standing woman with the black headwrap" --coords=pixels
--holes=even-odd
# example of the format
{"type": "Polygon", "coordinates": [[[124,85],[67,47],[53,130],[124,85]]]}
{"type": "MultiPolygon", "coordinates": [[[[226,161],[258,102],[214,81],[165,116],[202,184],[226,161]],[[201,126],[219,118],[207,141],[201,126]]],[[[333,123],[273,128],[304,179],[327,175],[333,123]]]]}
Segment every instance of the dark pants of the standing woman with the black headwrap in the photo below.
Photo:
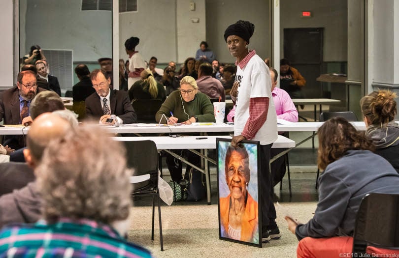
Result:
{"type": "Polygon", "coordinates": [[[276,209],[274,208],[273,196],[272,196],[272,186],[271,186],[271,177],[269,170],[269,161],[270,161],[270,149],[272,144],[261,145],[261,162],[259,173],[260,175],[260,188],[261,188],[261,196],[262,203],[260,203],[262,207],[262,232],[267,232],[267,229],[273,229],[277,227],[275,223],[276,209]]]}

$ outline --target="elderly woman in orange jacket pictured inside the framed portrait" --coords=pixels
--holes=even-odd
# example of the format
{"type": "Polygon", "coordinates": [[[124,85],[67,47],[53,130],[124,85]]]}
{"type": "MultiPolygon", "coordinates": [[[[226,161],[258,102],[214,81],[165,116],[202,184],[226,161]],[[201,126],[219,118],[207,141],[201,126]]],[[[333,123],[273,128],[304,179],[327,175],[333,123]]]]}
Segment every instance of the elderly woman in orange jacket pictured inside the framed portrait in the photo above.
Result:
{"type": "Polygon", "coordinates": [[[222,236],[245,242],[258,242],[258,202],[248,193],[250,180],[248,152],[242,146],[229,146],[225,161],[230,194],[219,199],[222,236]]]}

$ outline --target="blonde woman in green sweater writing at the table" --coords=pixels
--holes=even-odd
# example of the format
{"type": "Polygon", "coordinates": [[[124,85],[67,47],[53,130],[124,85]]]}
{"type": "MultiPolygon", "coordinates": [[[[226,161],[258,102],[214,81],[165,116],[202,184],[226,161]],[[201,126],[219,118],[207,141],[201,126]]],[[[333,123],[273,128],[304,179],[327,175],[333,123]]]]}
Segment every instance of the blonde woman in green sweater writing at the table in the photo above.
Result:
{"type": "MultiPolygon", "coordinates": [[[[175,90],[166,98],[161,109],[155,115],[155,120],[167,124],[191,124],[194,122],[215,122],[213,106],[208,96],[198,91],[195,79],[191,76],[183,77],[180,81],[180,90],[175,90]]],[[[198,166],[200,158],[189,150],[173,150],[184,153],[188,161],[198,166]]],[[[181,161],[167,154],[166,164],[172,180],[179,182],[182,177],[181,161]]],[[[188,174],[191,166],[187,166],[188,174]]]]}

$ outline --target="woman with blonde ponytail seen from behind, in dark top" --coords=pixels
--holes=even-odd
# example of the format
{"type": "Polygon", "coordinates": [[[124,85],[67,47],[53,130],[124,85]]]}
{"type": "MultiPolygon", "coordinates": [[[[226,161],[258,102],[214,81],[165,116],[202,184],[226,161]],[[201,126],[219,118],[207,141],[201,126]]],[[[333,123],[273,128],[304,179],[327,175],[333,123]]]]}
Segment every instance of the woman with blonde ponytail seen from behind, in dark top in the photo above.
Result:
{"type": "Polygon", "coordinates": [[[129,89],[130,100],[134,99],[160,99],[162,102],[166,99],[165,88],[158,83],[151,71],[143,70],[141,72],[141,80],[133,84],[129,89]]]}

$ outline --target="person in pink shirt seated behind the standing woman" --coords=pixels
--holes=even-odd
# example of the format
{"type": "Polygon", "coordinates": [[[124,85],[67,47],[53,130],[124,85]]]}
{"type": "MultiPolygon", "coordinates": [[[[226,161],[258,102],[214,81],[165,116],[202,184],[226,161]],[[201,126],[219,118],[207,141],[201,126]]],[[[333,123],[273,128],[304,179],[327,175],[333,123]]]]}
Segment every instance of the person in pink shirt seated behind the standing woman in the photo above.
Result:
{"type": "MultiPolygon", "coordinates": [[[[273,67],[269,67],[270,70],[270,79],[271,79],[271,94],[273,96],[274,107],[276,109],[277,119],[284,119],[289,122],[298,122],[298,111],[295,108],[294,103],[292,102],[290,95],[288,95],[287,91],[277,87],[277,77],[278,73],[276,69],[273,67]]],[[[227,121],[234,121],[234,113],[235,106],[227,115],[227,121]]],[[[279,134],[288,137],[288,133],[278,132],[279,134]]],[[[285,150],[285,148],[272,148],[270,150],[270,157],[274,157],[281,151],[285,150]]],[[[278,184],[281,179],[284,177],[285,168],[287,164],[285,161],[285,157],[282,156],[276,159],[274,162],[270,164],[271,171],[271,180],[272,185],[275,186],[278,184]]]]}

